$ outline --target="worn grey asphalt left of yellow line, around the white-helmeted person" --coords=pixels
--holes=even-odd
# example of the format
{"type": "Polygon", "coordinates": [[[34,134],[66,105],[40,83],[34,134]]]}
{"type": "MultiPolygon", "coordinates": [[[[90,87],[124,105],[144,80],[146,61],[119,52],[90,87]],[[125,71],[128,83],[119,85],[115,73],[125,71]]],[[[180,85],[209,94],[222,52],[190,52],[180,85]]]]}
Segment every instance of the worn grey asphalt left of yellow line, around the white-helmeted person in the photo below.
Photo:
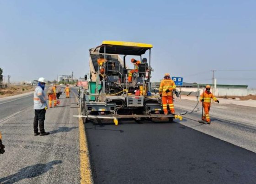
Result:
{"type": "Polygon", "coordinates": [[[74,95],[68,99],[62,95],[60,106],[47,110],[48,136],[33,135],[31,98],[3,104],[8,108],[0,106],[0,112],[6,115],[15,106],[16,111],[21,111],[24,104],[27,107],[0,123],[5,144],[5,153],[0,155],[0,183],[80,183],[79,124],[72,116],[78,113],[74,95]]]}

